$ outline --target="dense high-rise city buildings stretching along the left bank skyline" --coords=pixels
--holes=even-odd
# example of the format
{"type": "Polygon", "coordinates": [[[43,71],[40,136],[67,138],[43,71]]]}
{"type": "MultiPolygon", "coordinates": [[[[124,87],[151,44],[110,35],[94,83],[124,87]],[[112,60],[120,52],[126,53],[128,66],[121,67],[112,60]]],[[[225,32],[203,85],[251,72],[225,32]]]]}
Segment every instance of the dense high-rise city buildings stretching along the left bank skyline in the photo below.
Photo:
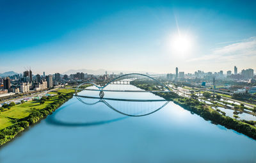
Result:
{"type": "MultiPolygon", "coordinates": [[[[118,74],[118,75],[122,75],[118,74]]],[[[92,75],[77,72],[76,74],[61,75],[60,73],[52,75],[36,74],[31,70],[26,70],[22,74],[10,77],[0,77],[0,96],[6,93],[27,93],[29,91],[42,91],[53,87],[63,86],[64,84],[76,84],[76,82],[93,81],[104,82],[114,79],[117,74],[92,75]]]]}

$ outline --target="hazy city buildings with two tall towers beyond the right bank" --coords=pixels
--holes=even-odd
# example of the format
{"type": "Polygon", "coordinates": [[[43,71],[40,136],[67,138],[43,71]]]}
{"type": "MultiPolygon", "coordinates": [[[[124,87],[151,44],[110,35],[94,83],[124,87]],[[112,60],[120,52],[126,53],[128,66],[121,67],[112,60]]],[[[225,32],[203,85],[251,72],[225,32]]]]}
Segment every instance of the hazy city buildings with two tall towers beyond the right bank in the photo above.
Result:
{"type": "Polygon", "coordinates": [[[188,86],[206,86],[234,93],[256,93],[256,75],[253,74],[252,68],[238,72],[237,66],[234,66],[234,73],[228,70],[225,74],[222,70],[206,73],[198,70],[195,74],[184,74],[176,67],[175,74],[167,74],[166,79],[188,86]]]}

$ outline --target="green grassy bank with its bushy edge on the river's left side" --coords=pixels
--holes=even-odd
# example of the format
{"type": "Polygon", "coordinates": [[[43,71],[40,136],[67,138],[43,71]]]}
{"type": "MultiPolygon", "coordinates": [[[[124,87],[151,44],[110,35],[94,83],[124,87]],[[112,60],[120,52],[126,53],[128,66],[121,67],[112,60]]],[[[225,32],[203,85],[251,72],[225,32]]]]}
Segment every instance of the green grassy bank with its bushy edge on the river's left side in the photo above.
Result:
{"type": "Polygon", "coordinates": [[[42,100],[2,108],[0,112],[0,146],[12,140],[29,125],[46,118],[73,97],[74,89],[51,92],[54,96],[42,100]]]}

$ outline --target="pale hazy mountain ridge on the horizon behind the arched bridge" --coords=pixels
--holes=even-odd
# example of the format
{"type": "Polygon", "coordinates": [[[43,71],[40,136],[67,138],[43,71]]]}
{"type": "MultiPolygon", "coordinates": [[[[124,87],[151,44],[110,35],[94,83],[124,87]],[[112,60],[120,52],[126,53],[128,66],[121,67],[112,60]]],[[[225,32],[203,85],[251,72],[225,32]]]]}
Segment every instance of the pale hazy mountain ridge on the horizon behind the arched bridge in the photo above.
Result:
{"type": "Polygon", "coordinates": [[[76,74],[77,72],[83,72],[84,74],[93,74],[93,75],[103,75],[106,73],[106,71],[108,72],[108,74],[120,74],[120,72],[124,73],[124,74],[129,74],[129,73],[141,73],[141,74],[156,74],[154,72],[131,72],[131,71],[111,71],[111,70],[104,70],[104,69],[98,69],[98,70],[88,70],[88,69],[79,69],[79,70],[68,70],[67,72],[63,72],[64,74],[70,75],[70,74],[76,74]]]}

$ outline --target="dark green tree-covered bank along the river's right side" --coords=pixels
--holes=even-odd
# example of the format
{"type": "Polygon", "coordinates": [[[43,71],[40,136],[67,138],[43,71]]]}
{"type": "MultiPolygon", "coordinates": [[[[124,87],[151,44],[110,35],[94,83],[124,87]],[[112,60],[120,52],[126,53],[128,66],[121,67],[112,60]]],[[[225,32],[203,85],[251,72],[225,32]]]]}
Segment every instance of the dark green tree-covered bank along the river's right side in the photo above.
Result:
{"type": "MultiPolygon", "coordinates": [[[[154,90],[154,85],[147,82],[137,82],[132,81],[132,85],[145,90],[154,90]]],[[[224,116],[218,111],[211,108],[210,105],[204,102],[199,102],[196,98],[181,97],[177,93],[154,93],[159,97],[163,97],[166,100],[173,101],[175,104],[182,106],[184,109],[190,111],[192,114],[198,114],[205,120],[210,120],[216,125],[223,125],[226,128],[230,128],[240,132],[248,137],[252,137],[256,140],[256,127],[251,123],[246,123],[244,121],[239,121],[228,116],[224,116]]]]}

